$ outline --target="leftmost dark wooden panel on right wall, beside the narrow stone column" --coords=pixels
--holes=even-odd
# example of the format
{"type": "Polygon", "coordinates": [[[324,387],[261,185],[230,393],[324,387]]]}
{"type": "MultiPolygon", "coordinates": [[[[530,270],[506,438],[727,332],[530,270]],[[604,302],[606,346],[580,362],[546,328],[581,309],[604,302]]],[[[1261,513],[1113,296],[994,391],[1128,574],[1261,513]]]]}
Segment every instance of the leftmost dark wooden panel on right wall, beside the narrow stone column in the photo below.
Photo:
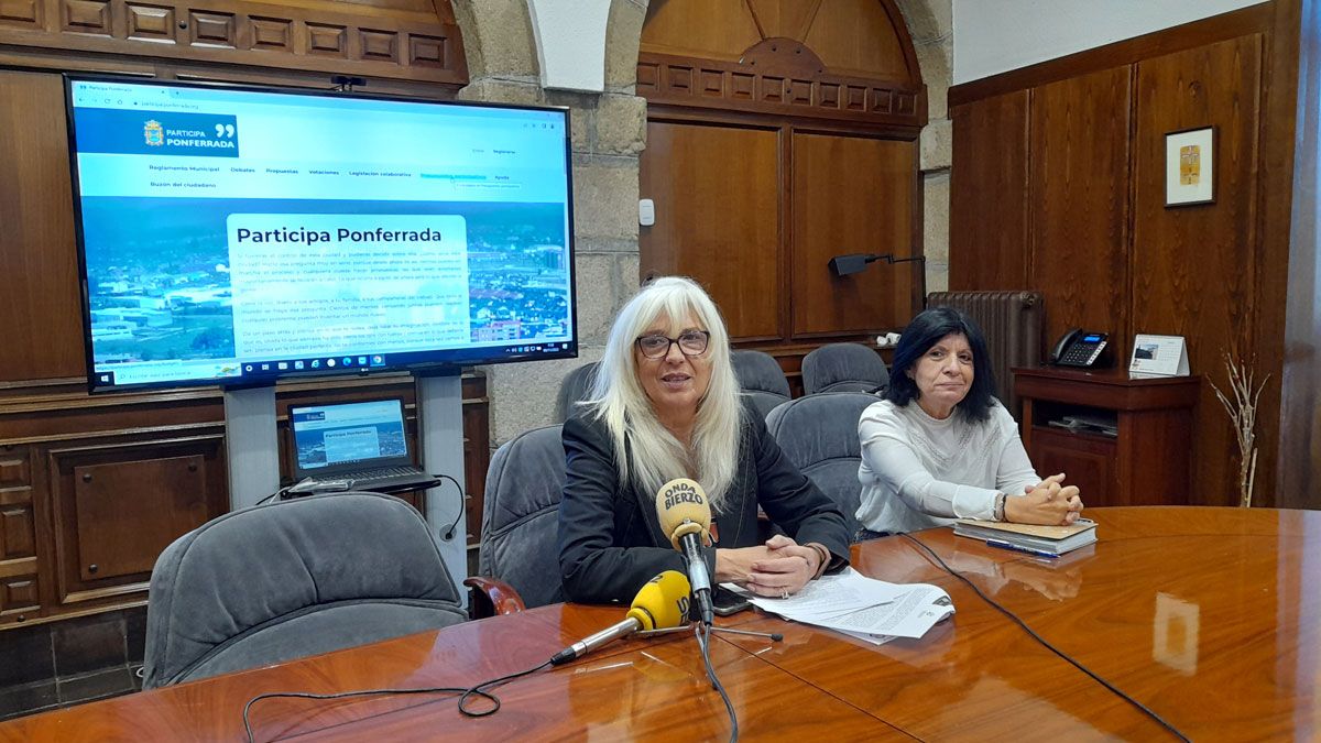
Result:
{"type": "Polygon", "coordinates": [[[950,171],[950,290],[1028,283],[1026,90],[958,106],[950,171]]]}

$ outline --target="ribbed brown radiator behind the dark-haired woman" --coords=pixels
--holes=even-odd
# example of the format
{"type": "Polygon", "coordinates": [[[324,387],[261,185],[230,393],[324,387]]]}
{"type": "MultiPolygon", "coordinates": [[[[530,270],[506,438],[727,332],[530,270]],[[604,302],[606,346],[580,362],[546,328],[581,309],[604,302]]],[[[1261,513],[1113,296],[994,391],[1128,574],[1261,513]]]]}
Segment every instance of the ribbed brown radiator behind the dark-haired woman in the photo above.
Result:
{"type": "Polygon", "coordinates": [[[982,328],[991,352],[996,397],[1021,420],[1018,398],[1013,394],[1015,366],[1041,364],[1041,325],[1045,316],[1041,292],[931,292],[926,305],[952,307],[982,328]]]}

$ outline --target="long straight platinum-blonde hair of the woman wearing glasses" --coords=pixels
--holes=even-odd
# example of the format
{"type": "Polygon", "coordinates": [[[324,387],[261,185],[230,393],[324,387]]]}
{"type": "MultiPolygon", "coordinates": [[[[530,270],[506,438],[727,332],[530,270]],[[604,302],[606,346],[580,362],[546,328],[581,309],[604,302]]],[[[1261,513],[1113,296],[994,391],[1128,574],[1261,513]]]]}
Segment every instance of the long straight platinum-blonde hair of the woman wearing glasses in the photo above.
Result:
{"type": "Polygon", "coordinates": [[[712,508],[721,510],[738,467],[742,405],[725,323],[696,282],[682,276],[655,279],[624,305],[610,328],[592,398],[585,405],[610,431],[621,485],[631,481],[655,493],[668,480],[692,477],[705,488],[712,508]],[[658,317],[679,323],[688,313],[711,333],[704,354],[711,360],[711,385],[697,402],[691,447],[684,447],[657,418],[638,379],[633,349],[658,317]]]}

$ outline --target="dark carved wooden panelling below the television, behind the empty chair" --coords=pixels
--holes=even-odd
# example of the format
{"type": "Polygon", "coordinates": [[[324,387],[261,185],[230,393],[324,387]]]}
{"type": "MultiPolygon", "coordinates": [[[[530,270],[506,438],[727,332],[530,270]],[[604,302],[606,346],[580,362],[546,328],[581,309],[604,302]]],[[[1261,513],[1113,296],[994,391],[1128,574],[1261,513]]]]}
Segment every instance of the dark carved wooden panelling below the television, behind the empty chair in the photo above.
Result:
{"type": "MultiPolygon", "coordinates": [[[[276,387],[281,477],[291,405],[402,398],[416,443],[408,374],[276,387]]],[[[490,460],[486,378],[464,374],[468,534],[481,533],[490,460]]],[[[412,447],[417,451],[417,447],[412,447]]],[[[423,508],[425,496],[406,494],[423,508]]],[[[219,389],[89,395],[81,386],[0,389],[0,629],[141,606],[156,558],[230,509],[219,389]]]]}

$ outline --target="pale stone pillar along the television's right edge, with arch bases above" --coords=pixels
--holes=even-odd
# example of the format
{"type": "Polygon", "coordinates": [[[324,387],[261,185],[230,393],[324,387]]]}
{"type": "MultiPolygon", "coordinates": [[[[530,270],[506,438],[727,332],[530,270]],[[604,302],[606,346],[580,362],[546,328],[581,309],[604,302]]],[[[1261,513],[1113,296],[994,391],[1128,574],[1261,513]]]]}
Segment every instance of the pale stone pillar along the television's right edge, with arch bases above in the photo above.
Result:
{"type": "Polygon", "coordinates": [[[638,287],[638,156],[646,99],[634,94],[646,3],[614,0],[606,28],[605,91],[543,90],[526,0],[454,3],[470,83],[458,98],[568,106],[573,127],[573,233],[579,358],[487,366],[491,447],[551,423],[560,379],[597,361],[610,321],[638,287]]]}

